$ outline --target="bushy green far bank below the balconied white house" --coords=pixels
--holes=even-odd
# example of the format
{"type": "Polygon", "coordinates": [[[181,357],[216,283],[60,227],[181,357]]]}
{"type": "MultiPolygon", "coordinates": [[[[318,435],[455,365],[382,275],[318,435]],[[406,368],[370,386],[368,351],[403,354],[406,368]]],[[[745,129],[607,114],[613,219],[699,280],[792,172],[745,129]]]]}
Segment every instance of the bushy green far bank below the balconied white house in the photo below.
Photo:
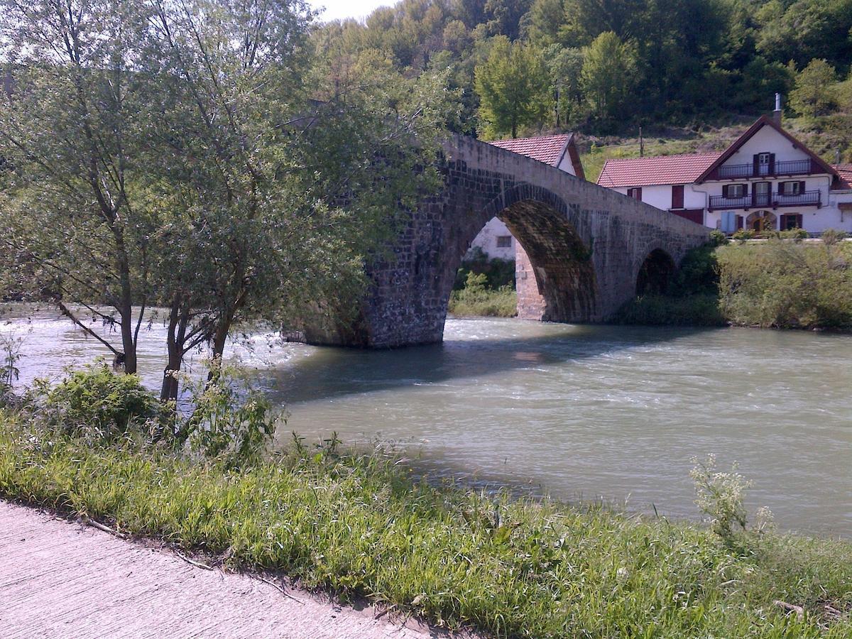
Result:
{"type": "Polygon", "coordinates": [[[691,251],[665,296],[640,296],[614,321],[852,330],[852,243],[769,239],[691,251]]]}

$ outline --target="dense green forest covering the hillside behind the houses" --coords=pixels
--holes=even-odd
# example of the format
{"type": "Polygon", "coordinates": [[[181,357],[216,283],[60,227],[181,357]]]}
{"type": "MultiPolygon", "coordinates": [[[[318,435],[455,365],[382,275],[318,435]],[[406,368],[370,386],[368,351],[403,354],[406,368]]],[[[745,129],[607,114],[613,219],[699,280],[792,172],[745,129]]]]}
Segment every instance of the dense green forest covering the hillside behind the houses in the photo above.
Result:
{"type": "Polygon", "coordinates": [[[341,65],[449,69],[463,108],[448,124],[482,137],[726,124],[777,91],[846,155],[850,27],[852,0],[403,0],[315,43],[341,65]]]}

